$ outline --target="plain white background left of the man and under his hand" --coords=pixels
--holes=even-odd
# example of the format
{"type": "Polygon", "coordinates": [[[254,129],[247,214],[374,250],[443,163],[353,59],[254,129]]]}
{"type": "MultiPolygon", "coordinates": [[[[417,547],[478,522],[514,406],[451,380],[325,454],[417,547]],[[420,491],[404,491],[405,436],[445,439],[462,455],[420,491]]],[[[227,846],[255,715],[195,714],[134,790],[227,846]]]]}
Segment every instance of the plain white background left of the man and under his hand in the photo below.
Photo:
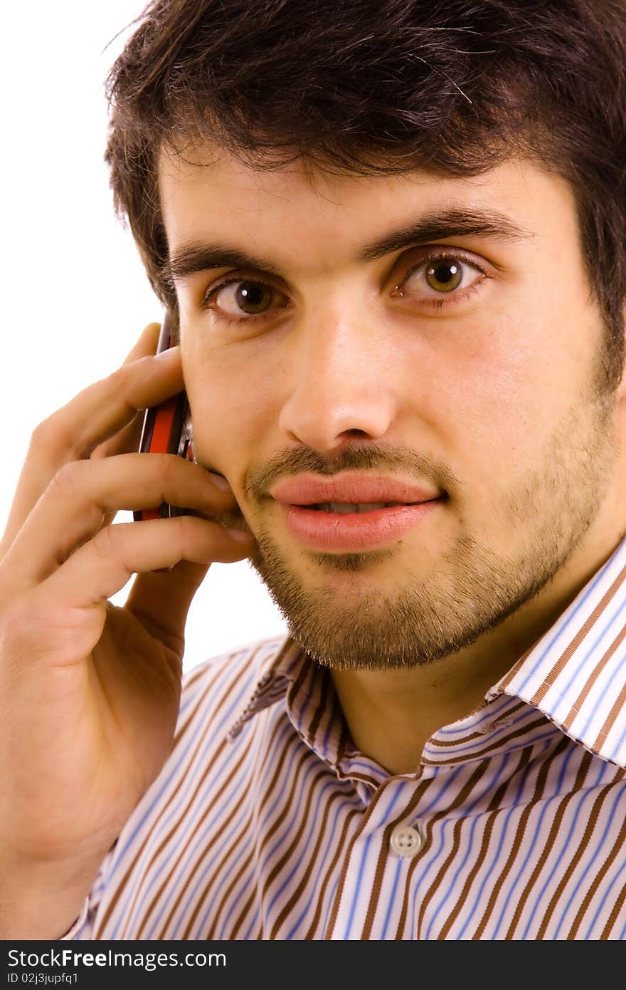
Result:
{"type": "MultiPolygon", "coordinates": [[[[36,0],[3,10],[0,532],[35,426],[113,371],[161,319],[131,233],[114,216],[103,161],[104,79],[142,8],[36,0]]],[[[245,561],[213,564],[189,614],[185,666],[285,631],[245,561]]]]}

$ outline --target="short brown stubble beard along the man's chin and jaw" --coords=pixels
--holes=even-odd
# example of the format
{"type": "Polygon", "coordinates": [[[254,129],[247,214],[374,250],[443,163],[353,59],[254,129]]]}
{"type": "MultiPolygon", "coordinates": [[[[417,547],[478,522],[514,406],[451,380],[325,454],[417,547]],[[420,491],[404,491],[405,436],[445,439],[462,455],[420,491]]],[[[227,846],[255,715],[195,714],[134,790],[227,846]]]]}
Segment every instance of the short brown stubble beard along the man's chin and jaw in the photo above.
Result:
{"type": "MultiPolygon", "coordinates": [[[[509,533],[514,546],[508,555],[467,531],[450,541],[427,577],[402,574],[402,548],[319,553],[319,580],[311,587],[267,528],[255,525],[250,563],[292,637],[317,662],[337,670],[413,667],[475,644],[537,596],[581,545],[610,483],[614,397],[595,391],[585,400],[555,429],[536,469],[515,479],[494,506],[493,530],[509,533]],[[395,553],[398,582],[384,594],[373,587],[372,575],[395,553]],[[344,597],[334,580],[324,586],[324,571],[346,575],[344,597]]],[[[449,499],[436,511],[459,510],[449,499]]]]}

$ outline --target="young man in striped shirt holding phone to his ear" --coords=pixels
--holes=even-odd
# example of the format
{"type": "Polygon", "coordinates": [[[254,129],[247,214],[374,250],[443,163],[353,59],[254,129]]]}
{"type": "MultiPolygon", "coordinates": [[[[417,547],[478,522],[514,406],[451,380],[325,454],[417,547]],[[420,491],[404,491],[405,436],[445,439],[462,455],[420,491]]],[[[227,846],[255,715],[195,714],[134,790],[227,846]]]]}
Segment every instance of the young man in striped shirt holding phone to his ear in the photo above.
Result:
{"type": "Polygon", "coordinates": [[[625,59],[622,0],[146,11],[107,159],[180,347],[20,480],[4,938],[624,938],[625,59]],[[198,462],[132,452],[183,384],[198,462]],[[181,698],[245,556],[292,636],[181,698]]]}

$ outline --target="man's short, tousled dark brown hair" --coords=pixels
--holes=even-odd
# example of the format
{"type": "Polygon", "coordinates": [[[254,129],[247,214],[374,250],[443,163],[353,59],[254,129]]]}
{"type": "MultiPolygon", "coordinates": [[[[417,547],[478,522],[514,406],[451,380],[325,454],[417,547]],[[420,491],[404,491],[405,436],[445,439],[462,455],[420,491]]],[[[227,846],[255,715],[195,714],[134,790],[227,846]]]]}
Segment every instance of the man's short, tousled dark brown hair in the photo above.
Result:
{"type": "MultiPolygon", "coordinates": [[[[515,153],[571,183],[605,384],[624,355],[626,0],[154,0],[107,79],[106,161],[176,319],[163,143],[260,169],[473,175],[515,153]]],[[[549,263],[547,259],[547,263],[549,263]]],[[[563,273],[568,277],[568,273],[563,273]]]]}

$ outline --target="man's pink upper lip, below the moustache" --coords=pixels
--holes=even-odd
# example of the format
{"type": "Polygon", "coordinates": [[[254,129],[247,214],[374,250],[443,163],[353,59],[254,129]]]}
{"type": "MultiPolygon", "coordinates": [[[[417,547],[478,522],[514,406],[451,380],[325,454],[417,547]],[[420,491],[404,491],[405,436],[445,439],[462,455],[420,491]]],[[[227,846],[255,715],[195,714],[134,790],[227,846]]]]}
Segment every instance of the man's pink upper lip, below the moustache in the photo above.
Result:
{"type": "Polygon", "coordinates": [[[270,489],[270,495],[283,505],[306,506],[320,502],[430,502],[441,492],[403,478],[346,471],[329,478],[315,474],[286,478],[270,489]]]}

